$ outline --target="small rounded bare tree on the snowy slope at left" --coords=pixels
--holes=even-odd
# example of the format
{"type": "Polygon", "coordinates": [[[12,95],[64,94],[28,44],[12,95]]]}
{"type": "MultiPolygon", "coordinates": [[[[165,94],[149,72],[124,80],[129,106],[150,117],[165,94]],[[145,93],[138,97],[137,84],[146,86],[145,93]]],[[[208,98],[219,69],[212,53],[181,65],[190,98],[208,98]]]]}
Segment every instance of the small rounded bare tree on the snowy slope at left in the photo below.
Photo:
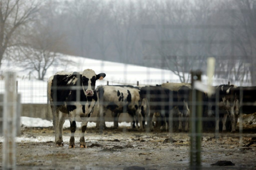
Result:
{"type": "Polygon", "coordinates": [[[47,69],[55,63],[65,65],[70,61],[58,53],[65,48],[64,35],[51,33],[48,27],[37,26],[23,39],[23,44],[10,48],[9,55],[24,70],[36,71],[38,80],[44,80],[47,69]]]}

